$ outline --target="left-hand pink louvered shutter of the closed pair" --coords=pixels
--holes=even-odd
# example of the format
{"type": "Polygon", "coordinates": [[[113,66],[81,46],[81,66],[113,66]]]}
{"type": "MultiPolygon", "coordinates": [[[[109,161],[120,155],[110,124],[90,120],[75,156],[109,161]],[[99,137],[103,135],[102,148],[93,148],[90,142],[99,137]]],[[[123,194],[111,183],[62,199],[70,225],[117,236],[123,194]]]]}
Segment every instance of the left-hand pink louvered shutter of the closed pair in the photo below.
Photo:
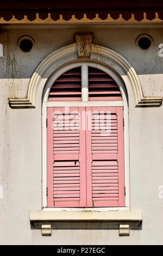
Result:
{"type": "Polygon", "coordinates": [[[85,131],[79,129],[83,109],[47,109],[48,207],[86,206],[85,131]]]}

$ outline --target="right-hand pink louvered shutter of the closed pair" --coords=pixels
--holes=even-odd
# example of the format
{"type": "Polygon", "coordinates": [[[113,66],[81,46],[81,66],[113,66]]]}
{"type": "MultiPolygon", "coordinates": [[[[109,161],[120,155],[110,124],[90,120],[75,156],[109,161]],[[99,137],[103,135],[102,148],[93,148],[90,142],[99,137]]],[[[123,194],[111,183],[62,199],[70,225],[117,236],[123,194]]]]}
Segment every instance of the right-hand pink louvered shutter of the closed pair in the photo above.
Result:
{"type": "Polygon", "coordinates": [[[124,206],[123,107],[86,111],[87,207],[124,206]]]}

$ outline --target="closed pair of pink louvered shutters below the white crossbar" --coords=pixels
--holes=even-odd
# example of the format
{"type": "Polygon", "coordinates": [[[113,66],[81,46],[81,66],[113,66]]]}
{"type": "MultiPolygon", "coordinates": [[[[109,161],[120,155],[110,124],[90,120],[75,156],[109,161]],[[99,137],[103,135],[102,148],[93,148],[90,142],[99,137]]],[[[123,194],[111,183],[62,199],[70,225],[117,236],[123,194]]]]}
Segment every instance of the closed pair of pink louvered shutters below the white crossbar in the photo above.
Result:
{"type": "Polygon", "coordinates": [[[123,107],[48,107],[47,119],[47,206],[124,206],[123,107]]]}

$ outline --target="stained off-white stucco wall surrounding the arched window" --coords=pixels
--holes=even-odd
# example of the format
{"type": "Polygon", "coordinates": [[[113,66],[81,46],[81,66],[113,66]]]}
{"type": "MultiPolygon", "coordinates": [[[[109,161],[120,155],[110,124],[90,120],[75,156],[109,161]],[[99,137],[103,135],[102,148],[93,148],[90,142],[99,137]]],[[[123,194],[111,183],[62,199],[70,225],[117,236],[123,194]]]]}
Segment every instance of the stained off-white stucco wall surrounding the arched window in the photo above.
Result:
{"type": "Polygon", "coordinates": [[[163,108],[135,108],[129,99],[130,205],[142,210],[139,230],[119,237],[118,230],[53,230],[51,237],[30,227],[29,211],[42,207],[41,92],[34,109],[11,109],[9,97],[26,97],[30,77],[52,51],[74,42],[76,32],[93,32],[93,42],[122,54],[134,67],[145,96],[163,94],[162,28],[64,27],[2,28],[4,56],[0,65],[0,244],[26,245],[126,245],[162,244],[163,108]],[[142,51],[135,45],[139,34],[150,34],[153,46],[142,51]],[[30,35],[34,50],[23,53],[17,40],[30,35]],[[2,189],[1,189],[2,190],[2,189]],[[154,235],[153,235],[154,234],[154,235]]]}

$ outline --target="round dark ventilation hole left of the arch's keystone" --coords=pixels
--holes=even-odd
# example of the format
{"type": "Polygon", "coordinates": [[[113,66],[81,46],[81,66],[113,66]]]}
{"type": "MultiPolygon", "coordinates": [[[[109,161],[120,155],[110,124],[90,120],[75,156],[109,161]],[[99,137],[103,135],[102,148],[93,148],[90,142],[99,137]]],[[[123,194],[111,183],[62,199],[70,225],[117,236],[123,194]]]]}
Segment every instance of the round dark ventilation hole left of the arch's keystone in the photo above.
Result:
{"type": "Polygon", "coordinates": [[[22,36],[18,39],[17,45],[22,52],[30,52],[34,46],[34,40],[30,36],[22,36]]]}

